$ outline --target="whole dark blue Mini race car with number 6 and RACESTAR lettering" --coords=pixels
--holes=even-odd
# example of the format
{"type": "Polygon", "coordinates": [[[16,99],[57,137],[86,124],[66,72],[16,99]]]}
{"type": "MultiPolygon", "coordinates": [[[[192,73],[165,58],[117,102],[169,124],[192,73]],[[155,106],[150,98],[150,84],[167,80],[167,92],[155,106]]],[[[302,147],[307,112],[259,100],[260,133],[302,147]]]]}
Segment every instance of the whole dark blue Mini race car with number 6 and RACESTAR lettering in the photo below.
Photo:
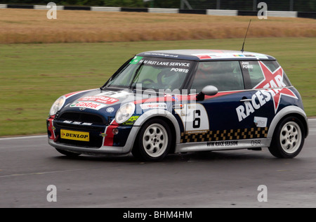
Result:
{"type": "Polygon", "coordinates": [[[63,155],[162,160],[179,152],[260,150],[291,158],[308,136],[298,91],[260,53],[139,53],[99,89],[53,103],[48,143],[63,155]]]}

